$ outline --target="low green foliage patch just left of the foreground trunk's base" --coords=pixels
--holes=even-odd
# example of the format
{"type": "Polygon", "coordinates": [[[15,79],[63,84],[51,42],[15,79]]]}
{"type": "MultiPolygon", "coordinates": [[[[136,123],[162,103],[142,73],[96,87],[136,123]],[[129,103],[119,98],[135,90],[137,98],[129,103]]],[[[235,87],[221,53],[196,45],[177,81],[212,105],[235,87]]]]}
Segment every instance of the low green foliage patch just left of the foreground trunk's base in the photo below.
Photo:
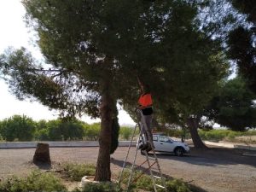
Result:
{"type": "Polygon", "coordinates": [[[96,166],[91,164],[68,163],[63,166],[65,176],[72,181],[81,181],[84,176],[93,176],[96,172],[96,166]]]}

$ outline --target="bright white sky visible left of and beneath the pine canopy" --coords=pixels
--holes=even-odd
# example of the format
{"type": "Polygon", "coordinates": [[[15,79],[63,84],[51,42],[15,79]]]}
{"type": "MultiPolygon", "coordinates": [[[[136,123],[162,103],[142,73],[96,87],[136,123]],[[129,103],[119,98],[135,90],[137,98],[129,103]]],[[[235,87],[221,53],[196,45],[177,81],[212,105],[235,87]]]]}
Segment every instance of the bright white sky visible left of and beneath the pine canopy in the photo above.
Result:
{"type": "MultiPolygon", "coordinates": [[[[26,28],[24,22],[25,9],[20,0],[0,0],[0,54],[9,46],[20,48],[26,47],[32,51],[32,55],[42,58],[38,47],[33,44],[34,35],[31,29],[26,28]]],[[[9,118],[14,114],[25,114],[34,120],[56,119],[57,111],[50,111],[38,102],[18,101],[9,93],[8,84],[0,79],[0,119],[9,118]]],[[[83,117],[84,121],[93,123],[99,119],[83,117]]],[[[135,125],[131,117],[124,110],[119,110],[120,125],[135,125]]]]}

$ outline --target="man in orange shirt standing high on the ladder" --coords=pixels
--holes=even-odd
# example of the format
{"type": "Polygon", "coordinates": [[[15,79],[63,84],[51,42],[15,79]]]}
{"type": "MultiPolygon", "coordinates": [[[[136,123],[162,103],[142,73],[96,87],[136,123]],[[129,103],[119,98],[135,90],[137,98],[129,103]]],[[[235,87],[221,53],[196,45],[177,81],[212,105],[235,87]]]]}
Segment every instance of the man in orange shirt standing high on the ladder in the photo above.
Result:
{"type": "Polygon", "coordinates": [[[138,104],[139,104],[138,108],[140,108],[143,112],[143,116],[141,117],[142,118],[141,129],[146,139],[146,144],[142,146],[142,149],[146,149],[147,151],[150,151],[152,148],[154,148],[153,136],[152,136],[152,130],[151,130],[151,123],[153,119],[153,108],[152,108],[153,102],[152,102],[152,96],[151,96],[148,85],[140,84],[140,86],[142,90],[142,95],[138,100],[138,104]]]}

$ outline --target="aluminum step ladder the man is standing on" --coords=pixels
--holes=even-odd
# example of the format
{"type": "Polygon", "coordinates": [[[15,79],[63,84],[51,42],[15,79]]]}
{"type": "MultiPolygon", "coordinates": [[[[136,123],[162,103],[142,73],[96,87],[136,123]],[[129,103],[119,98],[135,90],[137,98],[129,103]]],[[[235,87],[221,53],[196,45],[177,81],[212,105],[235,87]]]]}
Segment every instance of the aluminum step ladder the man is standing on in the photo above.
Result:
{"type": "MultiPolygon", "coordinates": [[[[161,169],[160,169],[160,165],[159,165],[159,161],[158,161],[157,156],[155,154],[154,148],[152,148],[152,150],[150,151],[150,152],[153,152],[153,157],[149,156],[148,152],[146,150],[142,149],[141,152],[142,152],[142,154],[145,155],[146,160],[144,160],[143,163],[140,164],[139,166],[136,165],[137,152],[139,150],[139,143],[141,143],[141,142],[143,144],[148,143],[148,141],[145,141],[146,137],[144,136],[143,129],[142,129],[142,126],[146,125],[145,119],[143,119],[142,110],[141,109],[137,109],[136,112],[137,112],[138,123],[137,123],[137,125],[134,128],[134,131],[133,131],[133,134],[132,134],[132,137],[131,137],[131,142],[129,144],[129,148],[128,148],[128,151],[127,151],[127,154],[126,154],[126,157],[125,157],[125,160],[124,160],[123,168],[122,168],[122,171],[120,172],[119,182],[118,182],[119,186],[124,181],[123,177],[124,177],[125,169],[128,169],[129,170],[128,172],[130,172],[128,183],[126,185],[126,191],[129,191],[131,189],[131,185],[133,183],[136,183],[137,179],[139,177],[142,177],[144,173],[149,171],[149,175],[151,177],[151,180],[152,180],[152,183],[153,183],[153,186],[154,186],[154,192],[157,192],[158,189],[164,189],[166,191],[166,178],[163,177],[163,175],[162,175],[162,172],[161,172],[161,169]],[[131,152],[131,145],[132,145],[134,137],[136,135],[137,128],[139,128],[139,132],[140,133],[139,133],[139,137],[137,138],[136,152],[134,154],[132,165],[126,167],[127,166],[127,160],[128,160],[129,154],[131,152]],[[144,164],[146,164],[148,166],[148,168],[146,168],[145,171],[140,172],[140,174],[138,176],[136,176],[134,174],[134,172],[136,172],[137,169],[142,167],[144,164]]],[[[151,141],[151,142],[153,143],[153,141],[151,141]]]]}

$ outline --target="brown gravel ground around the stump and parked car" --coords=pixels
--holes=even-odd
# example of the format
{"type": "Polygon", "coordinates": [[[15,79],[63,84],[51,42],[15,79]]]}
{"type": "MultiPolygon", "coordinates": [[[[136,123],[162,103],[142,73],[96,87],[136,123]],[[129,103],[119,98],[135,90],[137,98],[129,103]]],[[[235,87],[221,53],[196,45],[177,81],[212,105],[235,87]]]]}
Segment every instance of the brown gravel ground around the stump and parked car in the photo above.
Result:
{"type": "MultiPolygon", "coordinates": [[[[135,148],[131,148],[131,153],[134,151],[135,148]]],[[[26,175],[35,167],[32,164],[34,152],[35,148],[0,149],[0,177],[26,175]]],[[[50,157],[53,166],[67,161],[96,163],[97,152],[98,148],[50,148],[50,157]]],[[[118,148],[112,155],[113,173],[120,171],[126,152],[127,148],[118,148]]],[[[191,153],[184,157],[159,154],[158,158],[164,174],[182,178],[207,192],[255,192],[256,157],[243,156],[246,152],[241,149],[191,148],[191,153]]],[[[137,164],[143,160],[145,157],[138,154],[137,164]]]]}

